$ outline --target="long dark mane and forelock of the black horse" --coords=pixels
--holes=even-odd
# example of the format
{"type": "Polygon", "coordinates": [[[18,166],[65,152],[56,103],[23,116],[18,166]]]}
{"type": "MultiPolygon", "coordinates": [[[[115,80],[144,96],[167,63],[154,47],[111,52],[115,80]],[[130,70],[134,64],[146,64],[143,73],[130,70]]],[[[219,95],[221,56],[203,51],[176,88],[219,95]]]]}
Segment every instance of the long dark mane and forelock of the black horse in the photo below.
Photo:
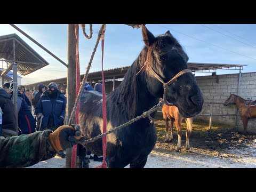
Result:
{"type": "MultiPolygon", "coordinates": [[[[127,73],[124,76],[121,84],[109,94],[108,100],[111,100],[114,105],[114,114],[117,115],[120,113],[120,109],[125,109],[129,115],[129,119],[134,118],[135,111],[138,107],[138,89],[141,89],[138,86],[138,78],[136,74],[138,71],[145,65],[153,67],[155,61],[154,52],[157,52],[159,56],[165,54],[166,52],[163,49],[163,45],[166,42],[173,46],[180,48],[180,51],[184,51],[183,47],[173,36],[159,35],[155,38],[155,42],[151,46],[144,46],[140,52],[138,58],[132,63],[131,67],[127,70],[127,73]],[[132,105],[132,106],[131,106],[132,105]]],[[[142,71],[148,73],[148,68],[144,67],[142,71]]],[[[142,71],[140,73],[142,73],[142,71]]],[[[141,81],[142,81],[142,75],[141,81]]]]}

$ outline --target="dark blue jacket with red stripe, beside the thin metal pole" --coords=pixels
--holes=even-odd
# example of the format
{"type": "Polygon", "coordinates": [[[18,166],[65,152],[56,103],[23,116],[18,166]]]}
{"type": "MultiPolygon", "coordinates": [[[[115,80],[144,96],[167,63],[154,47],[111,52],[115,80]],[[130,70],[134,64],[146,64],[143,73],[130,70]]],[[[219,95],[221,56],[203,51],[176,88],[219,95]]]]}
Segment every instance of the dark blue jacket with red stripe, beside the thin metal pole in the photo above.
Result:
{"type": "Polygon", "coordinates": [[[34,133],[36,129],[36,119],[31,114],[31,111],[27,102],[22,97],[22,93],[20,93],[19,91],[18,91],[17,107],[18,107],[19,135],[34,133]]]}

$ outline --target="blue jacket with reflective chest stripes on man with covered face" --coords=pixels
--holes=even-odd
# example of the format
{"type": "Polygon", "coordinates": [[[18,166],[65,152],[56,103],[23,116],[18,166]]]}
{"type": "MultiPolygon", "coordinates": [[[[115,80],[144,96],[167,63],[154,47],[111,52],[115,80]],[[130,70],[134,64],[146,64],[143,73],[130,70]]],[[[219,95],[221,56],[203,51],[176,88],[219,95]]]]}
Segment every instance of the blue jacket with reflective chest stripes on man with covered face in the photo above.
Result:
{"type": "Polygon", "coordinates": [[[45,90],[39,99],[35,113],[36,115],[42,113],[44,115],[42,120],[41,129],[47,126],[48,119],[52,114],[54,118],[54,126],[57,129],[59,126],[63,125],[66,110],[66,97],[59,91],[57,99],[52,103],[51,99],[48,97],[48,92],[45,90]]]}

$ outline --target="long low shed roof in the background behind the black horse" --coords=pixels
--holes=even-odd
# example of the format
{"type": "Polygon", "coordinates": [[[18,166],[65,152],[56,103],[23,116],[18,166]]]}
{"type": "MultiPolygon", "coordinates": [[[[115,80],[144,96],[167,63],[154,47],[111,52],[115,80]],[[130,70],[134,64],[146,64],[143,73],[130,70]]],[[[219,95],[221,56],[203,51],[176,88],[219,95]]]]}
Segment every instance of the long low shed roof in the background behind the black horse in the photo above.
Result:
{"type": "MultiPolygon", "coordinates": [[[[214,64],[214,63],[194,63],[194,62],[188,62],[188,67],[191,71],[193,72],[204,72],[206,70],[216,70],[216,69],[239,69],[239,67],[243,67],[246,65],[235,65],[235,64],[214,64]]],[[[105,79],[113,79],[115,76],[115,79],[118,78],[123,78],[127,70],[129,69],[130,66],[125,66],[125,67],[118,67],[114,69],[107,69],[104,70],[104,78],[105,79]]],[[[81,75],[81,81],[84,78],[84,74],[81,75]]],[[[87,81],[101,81],[101,71],[95,71],[92,73],[88,74],[87,81]]],[[[28,85],[38,85],[40,83],[42,84],[49,84],[51,82],[55,82],[57,84],[66,84],[67,83],[67,77],[63,78],[58,78],[58,79],[51,79],[49,81],[43,81],[43,82],[38,82],[38,83],[33,83],[33,84],[28,84],[28,85]]]]}

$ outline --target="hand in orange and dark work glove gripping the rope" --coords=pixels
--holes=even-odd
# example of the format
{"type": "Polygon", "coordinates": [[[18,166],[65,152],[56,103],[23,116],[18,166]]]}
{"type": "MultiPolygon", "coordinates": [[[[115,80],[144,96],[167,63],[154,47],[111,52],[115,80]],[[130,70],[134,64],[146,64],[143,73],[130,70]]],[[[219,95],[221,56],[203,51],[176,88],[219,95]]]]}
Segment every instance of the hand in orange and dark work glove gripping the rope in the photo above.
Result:
{"type": "Polygon", "coordinates": [[[49,140],[55,151],[67,149],[77,144],[79,140],[87,138],[81,136],[80,126],[77,124],[62,125],[57,130],[50,133],[49,140]]]}

